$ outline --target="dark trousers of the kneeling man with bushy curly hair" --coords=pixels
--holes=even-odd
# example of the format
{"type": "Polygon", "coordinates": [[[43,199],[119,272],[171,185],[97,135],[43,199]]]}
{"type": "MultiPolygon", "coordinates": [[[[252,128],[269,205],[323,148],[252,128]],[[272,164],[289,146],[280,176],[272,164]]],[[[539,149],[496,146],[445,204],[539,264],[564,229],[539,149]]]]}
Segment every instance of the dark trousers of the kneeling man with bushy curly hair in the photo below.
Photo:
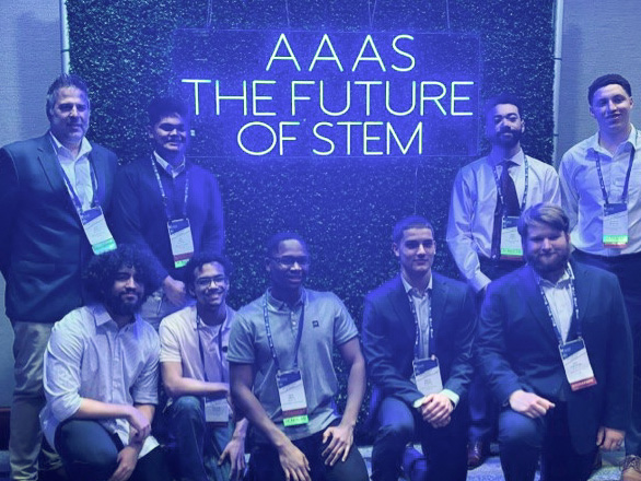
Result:
{"type": "MultiPolygon", "coordinates": [[[[56,450],[70,481],[107,481],[118,467],[120,438],[93,420],[72,419],[56,431],[56,450]]],[[[171,481],[160,447],[138,459],[130,481],[171,481]]]]}

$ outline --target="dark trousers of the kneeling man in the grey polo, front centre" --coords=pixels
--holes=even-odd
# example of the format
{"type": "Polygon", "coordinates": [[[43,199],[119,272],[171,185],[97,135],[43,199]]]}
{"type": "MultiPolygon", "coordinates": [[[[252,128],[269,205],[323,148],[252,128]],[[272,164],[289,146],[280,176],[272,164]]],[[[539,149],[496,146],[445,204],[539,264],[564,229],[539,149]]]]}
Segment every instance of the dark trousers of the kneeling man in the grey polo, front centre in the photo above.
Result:
{"type": "MultiPolygon", "coordinates": [[[[335,421],[331,425],[338,425],[335,421]]],[[[292,443],[310,461],[312,481],[368,481],[365,461],[356,446],[352,446],[347,460],[338,460],[334,466],[326,466],[322,453],[327,446],[323,444],[323,431],[292,443]]],[[[284,471],[280,466],[278,450],[271,445],[258,444],[249,457],[249,481],[284,481],[284,471]]]]}

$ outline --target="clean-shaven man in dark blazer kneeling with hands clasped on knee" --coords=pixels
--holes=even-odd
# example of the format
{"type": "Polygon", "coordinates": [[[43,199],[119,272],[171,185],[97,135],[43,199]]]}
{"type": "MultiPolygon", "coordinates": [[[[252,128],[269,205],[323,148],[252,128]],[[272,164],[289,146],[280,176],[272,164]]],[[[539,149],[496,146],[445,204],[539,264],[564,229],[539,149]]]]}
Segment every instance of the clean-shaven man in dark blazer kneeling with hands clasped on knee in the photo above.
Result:
{"type": "Polygon", "coordinates": [[[399,221],[393,249],[400,274],[368,294],[363,316],[371,415],[378,424],[372,480],[398,480],[415,437],[427,458],[427,480],[465,480],[467,410],[461,404],[473,371],[474,294],[432,272],[436,243],[424,218],[399,221]]]}

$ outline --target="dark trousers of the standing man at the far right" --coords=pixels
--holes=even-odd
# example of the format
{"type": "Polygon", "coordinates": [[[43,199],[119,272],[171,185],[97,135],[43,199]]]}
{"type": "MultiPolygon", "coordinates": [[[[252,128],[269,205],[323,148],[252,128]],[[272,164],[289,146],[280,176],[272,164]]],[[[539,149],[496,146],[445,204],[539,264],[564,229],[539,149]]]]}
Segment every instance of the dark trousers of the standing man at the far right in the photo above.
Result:
{"type": "MultiPolygon", "coordinates": [[[[580,262],[613,272],[619,279],[628,310],[634,351],[632,406],[641,406],[641,253],[602,257],[574,250],[572,257],[580,262]]],[[[632,420],[626,430],[626,454],[641,456],[641,409],[638,408],[632,409],[632,420]]]]}

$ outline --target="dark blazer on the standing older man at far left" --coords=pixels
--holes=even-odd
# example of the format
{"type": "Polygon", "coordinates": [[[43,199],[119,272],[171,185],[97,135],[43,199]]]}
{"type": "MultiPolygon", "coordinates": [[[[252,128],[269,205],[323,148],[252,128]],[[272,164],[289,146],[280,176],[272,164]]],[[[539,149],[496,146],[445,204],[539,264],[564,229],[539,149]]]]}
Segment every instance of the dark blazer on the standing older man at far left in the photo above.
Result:
{"type": "MultiPolygon", "coordinates": [[[[108,216],[117,159],[92,144],[90,160],[108,216]]],[[[84,303],[92,250],[57,164],[48,133],[0,149],[0,270],[12,320],[55,322],[84,303]]]]}

